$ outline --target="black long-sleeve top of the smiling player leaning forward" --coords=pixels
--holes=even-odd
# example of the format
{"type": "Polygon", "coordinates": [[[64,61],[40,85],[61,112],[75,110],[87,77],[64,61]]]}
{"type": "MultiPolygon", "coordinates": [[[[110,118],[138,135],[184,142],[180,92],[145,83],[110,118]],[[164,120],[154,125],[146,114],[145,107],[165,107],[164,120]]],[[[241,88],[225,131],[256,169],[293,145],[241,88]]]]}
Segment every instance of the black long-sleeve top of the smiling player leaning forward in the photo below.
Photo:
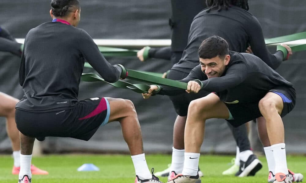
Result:
{"type": "MultiPolygon", "coordinates": [[[[201,70],[201,65],[196,66],[190,74],[180,80],[188,83],[199,79],[202,90],[217,92],[221,101],[239,103],[259,102],[267,91],[275,86],[292,87],[276,71],[264,63],[260,58],[248,53],[230,51],[230,62],[221,77],[207,78],[201,70]]],[[[161,87],[159,95],[178,95],[186,92],[181,89],[161,87]]]]}

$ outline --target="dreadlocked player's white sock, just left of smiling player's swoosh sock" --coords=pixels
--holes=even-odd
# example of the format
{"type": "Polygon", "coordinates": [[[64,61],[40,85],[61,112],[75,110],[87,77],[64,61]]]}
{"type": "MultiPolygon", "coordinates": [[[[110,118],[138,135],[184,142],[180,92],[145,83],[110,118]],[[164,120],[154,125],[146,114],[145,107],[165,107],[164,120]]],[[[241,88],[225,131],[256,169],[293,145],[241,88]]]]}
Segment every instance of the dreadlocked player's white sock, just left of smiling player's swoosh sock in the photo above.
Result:
{"type": "Polygon", "coordinates": [[[172,147],[172,161],[170,172],[175,171],[176,174],[182,173],[184,167],[184,152],[185,149],[179,150],[172,147]]]}

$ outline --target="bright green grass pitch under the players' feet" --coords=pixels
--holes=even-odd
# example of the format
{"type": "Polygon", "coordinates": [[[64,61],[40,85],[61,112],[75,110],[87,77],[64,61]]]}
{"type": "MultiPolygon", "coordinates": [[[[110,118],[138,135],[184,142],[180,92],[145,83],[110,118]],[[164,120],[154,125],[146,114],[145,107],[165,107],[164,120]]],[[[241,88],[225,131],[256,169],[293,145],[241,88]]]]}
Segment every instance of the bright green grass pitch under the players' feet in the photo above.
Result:
{"type": "MultiPolygon", "coordinates": [[[[263,168],[254,177],[237,178],[234,176],[222,176],[223,170],[229,168],[230,160],[234,156],[200,157],[200,168],[204,172],[202,182],[235,182],[235,183],[266,183],[268,168],[265,157],[259,157],[263,168]]],[[[164,170],[171,161],[170,155],[146,155],[148,166],[155,171],[164,170]]],[[[294,172],[306,175],[306,156],[287,156],[288,167],[294,172]]],[[[34,157],[32,163],[43,170],[49,171],[49,175],[34,175],[33,183],[132,183],[135,180],[135,172],[132,160],[128,155],[51,155],[34,157]],[[84,163],[93,163],[100,171],[78,172],[76,169],[84,163]]],[[[12,175],[13,158],[0,156],[0,182],[17,183],[18,176],[12,175]]],[[[167,178],[160,178],[166,182],[167,178]]]]}

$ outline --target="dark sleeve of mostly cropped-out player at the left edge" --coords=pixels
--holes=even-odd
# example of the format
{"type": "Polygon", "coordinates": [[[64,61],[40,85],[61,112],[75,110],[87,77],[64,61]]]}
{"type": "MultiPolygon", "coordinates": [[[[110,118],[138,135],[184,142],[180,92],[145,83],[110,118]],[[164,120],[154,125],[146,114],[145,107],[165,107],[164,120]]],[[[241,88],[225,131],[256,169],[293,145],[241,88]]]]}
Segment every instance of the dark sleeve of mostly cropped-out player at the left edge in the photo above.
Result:
{"type": "Polygon", "coordinates": [[[9,31],[0,27],[0,51],[11,52],[14,55],[21,56],[21,44],[18,43],[9,31]]]}

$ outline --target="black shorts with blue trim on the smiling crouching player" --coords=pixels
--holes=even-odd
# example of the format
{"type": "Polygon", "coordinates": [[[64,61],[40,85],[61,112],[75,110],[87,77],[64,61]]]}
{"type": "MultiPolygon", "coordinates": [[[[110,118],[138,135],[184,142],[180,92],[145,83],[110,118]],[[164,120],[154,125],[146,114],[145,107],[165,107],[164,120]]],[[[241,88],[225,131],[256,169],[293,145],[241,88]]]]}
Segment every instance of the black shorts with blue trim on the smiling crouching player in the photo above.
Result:
{"type": "MultiPolygon", "coordinates": [[[[284,102],[284,107],[281,113],[281,117],[284,117],[288,114],[295,106],[296,102],[296,93],[293,87],[277,86],[268,92],[273,92],[282,97],[284,102]]],[[[249,104],[227,104],[227,108],[232,114],[233,120],[227,120],[234,127],[238,127],[250,120],[262,117],[262,114],[259,111],[259,101],[256,103],[249,104]]]]}

